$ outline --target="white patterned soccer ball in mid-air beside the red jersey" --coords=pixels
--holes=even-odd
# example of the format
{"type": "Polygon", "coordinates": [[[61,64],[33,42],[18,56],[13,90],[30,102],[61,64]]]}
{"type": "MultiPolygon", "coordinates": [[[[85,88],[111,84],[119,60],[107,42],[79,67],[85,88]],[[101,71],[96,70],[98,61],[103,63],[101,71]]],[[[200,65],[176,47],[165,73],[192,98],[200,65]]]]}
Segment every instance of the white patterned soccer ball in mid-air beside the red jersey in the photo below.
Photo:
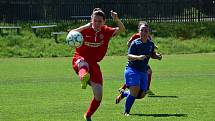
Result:
{"type": "Polygon", "coordinates": [[[70,31],[66,37],[66,42],[72,47],[80,47],[83,44],[83,36],[78,31],[70,31]]]}

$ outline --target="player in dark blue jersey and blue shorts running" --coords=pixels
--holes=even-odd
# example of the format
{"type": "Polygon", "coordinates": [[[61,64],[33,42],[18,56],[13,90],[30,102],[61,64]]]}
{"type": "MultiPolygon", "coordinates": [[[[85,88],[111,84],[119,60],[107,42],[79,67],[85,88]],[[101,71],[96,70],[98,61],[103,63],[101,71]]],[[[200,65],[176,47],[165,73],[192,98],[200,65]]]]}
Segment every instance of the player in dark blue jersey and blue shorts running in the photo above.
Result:
{"type": "Polygon", "coordinates": [[[155,52],[155,45],[149,39],[149,27],[146,22],[139,26],[140,38],[134,40],[128,49],[128,64],[125,68],[125,84],[129,91],[123,91],[121,97],[126,97],[124,114],[129,115],[135,99],[144,98],[147,93],[147,65],[150,57],[162,59],[155,52]]]}

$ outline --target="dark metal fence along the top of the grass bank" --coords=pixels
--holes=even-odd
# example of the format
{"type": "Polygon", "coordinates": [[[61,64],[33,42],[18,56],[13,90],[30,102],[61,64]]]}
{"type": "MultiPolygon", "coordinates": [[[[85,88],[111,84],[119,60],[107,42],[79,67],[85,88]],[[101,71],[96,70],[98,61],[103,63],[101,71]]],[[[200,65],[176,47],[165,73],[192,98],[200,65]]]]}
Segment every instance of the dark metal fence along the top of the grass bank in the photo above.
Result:
{"type": "Polygon", "coordinates": [[[122,19],[153,22],[215,21],[215,0],[1,0],[0,21],[87,19],[95,7],[117,11],[122,19]]]}

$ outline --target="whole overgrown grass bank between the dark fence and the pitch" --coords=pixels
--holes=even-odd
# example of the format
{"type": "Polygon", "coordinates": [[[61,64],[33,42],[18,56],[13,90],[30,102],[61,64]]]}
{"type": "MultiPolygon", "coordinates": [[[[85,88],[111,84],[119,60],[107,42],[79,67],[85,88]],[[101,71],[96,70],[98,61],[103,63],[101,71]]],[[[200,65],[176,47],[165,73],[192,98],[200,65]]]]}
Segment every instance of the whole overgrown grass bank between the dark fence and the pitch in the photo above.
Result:
{"type": "MultiPolygon", "coordinates": [[[[0,34],[0,57],[68,57],[73,50],[66,45],[66,34],[59,35],[55,41],[53,31],[66,31],[84,25],[87,21],[58,22],[53,29],[38,29],[35,35],[31,26],[47,23],[18,22],[22,26],[21,34],[16,31],[3,30],[0,34]]],[[[116,26],[112,21],[110,26],[116,26]]],[[[126,55],[127,41],[137,32],[138,21],[124,21],[126,33],[110,41],[107,55],[126,55]]],[[[149,23],[153,32],[153,40],[163,54],[208,53],[215,51],[215,23],[149,23]]],[[[0,23],[2,26],[14,24],[0,23]]]]}

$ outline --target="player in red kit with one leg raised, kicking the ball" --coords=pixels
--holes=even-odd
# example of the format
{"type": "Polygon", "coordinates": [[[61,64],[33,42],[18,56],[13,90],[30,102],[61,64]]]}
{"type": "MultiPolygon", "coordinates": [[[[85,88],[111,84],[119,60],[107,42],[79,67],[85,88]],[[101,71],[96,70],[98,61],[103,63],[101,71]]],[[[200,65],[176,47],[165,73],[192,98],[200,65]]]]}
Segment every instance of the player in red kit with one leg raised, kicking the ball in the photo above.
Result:
{"type": "Polygon", "coordinates": [[[100,62],[105,56],[110,38],[125,31],[118,14],[111,11],[111,16],[118,27],[106,26],[105,13],[100,8],[95,8],[90,23],[73,29],[79,31],[84,39],[83,45],[75,50],[72,61],[73,68],[81,80],[82,89],[86,89],[87,84],[89,84],[94,96],[87,112],[84,114],[86,121],[91,121],[91,116],[102,100],[103,78],[97,62],[100,62]]]}

